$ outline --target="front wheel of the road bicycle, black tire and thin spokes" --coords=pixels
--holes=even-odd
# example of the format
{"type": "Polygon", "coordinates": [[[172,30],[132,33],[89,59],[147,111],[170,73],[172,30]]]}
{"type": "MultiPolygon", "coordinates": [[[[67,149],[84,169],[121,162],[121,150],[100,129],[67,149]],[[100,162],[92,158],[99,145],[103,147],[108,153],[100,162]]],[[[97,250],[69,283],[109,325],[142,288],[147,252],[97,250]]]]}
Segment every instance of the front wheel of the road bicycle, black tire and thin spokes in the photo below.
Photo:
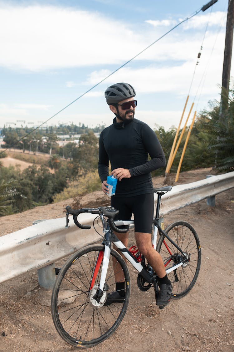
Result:
{"type": "MultiPolygon", "coordinates": [[[[111,258],[116,258],[125,277],[125,301],[109,306],[94,307],[91,303],[91,277],[99,252],[104,245],[90,245],[74,253],[60,270],[51,297],[54,326],[68,344],[80,348],[94,347],[109,338],[120,325],[129,302],[130,277],[123,258],[111,249],[106,284],[115,290],[114,269],[111,258]]],[[[98,287],[103,258],[96,272],[93,290],[98,287]]],[[[107,291],[105,291],[107,296],[107,291]]],[[[103,303],[103,302],[102,302],[103,303]]]]}

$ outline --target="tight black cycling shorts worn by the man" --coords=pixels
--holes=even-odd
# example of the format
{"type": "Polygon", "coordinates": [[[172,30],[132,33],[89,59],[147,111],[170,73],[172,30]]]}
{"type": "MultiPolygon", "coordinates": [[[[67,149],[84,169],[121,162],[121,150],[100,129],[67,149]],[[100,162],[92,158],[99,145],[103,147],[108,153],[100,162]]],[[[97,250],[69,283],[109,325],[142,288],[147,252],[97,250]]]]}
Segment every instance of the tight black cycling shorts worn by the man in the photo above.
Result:
{"type": "MultiPolygon", "coordinates": [[[[134,215],[135,232],[151,233],[154,217],[154,194],[133,197],[111,197],[111,206],[119,210],[114,220],[131,220],[134,215]]],[[[126,226],[118,226],[123,228],[126,226]]]]}

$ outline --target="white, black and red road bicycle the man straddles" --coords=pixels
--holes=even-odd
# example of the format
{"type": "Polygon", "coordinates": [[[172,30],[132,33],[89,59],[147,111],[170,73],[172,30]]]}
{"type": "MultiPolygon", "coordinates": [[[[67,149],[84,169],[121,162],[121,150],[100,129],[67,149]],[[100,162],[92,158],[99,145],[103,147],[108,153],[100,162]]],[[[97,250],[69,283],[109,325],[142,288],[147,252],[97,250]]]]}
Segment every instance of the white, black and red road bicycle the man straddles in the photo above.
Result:
{"type": "MultiPolygon", "coordinates": [[[[173,287],[172,298],[177,299],[185,296],[198,278],[201,247],[196,231],[188,222],[176,221],[165,231],[162,230],[159,221],[160,200],[161,196],[171,189],[172,186],[154,189],[158,194],[158,201],[153,219],[152,245],[163,258],[173,287]],[[158,231],[160,237],[156,245],[158,231]]],[[[89,245],[78,250],[59,271],[51,298],[52,318],[59,335],[68,344],[81,348],[94,347],[113,334],[128,307],[131,284],[122,256],[139,272],[139,289],[147,291],[153,286],[156,300],[159,292],[158,278],[136,246],[128,250],[114,234],[114,231],[127,232],[127,228],[116,226],[131,225],[133,220],[114,221],[118,210],[111,207],[74,210],[67,206],[66,210],[66,227],[69,214],[73,215],[75,225],[83,229],[89,229],[91,226],[81,225],[77,220],[78,215],[86,212],[98,214],[97,218],[101,220],[103,228],[103,241],[102,244],[89,245]],[[121,251],[122,256],[111,248],[112,242],[121,251]],[[110,258],[113,265],[109,265],[110,258]],[[115,290],[114,266],[117,265],[124,274],[125,300],[105,306],[108,292],[115,290]]],[[[95,228],[94,224],[95,220],[95,228]]]]}

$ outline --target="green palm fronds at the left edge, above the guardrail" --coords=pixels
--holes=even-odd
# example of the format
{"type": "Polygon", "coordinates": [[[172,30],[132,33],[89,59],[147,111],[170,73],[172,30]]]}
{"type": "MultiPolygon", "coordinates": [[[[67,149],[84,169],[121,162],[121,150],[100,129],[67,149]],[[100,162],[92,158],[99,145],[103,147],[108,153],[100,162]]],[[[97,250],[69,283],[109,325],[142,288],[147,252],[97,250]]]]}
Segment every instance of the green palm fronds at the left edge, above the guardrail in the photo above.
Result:
{"type": "Polygon", "coordinates": [[[7,213],[7,208],[13,203],[15,195],[18,194],[14,186],[15,182],[13,178],[6,182],[3,179],[0,181],[0,216],[7,213]]]}

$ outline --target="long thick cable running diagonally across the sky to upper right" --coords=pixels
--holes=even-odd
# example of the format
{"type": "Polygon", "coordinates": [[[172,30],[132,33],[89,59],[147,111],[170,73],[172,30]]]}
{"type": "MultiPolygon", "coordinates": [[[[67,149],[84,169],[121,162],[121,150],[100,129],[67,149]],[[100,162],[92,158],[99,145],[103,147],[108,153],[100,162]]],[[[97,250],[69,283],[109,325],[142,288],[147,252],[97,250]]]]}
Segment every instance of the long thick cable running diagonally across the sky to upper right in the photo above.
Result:
{"type": "Polygon", "coordinates": [[[109,78],[110,76],[112,76],[114,73],[116,73],[117,71],[119,71],[121,68],[123,68],[124,66],[126,66],[129,62],[133,61],[136,57],[138,57],[139,55],[141,55],[144,51],[146,51],[147,49],[149,49],[152,45],[154,45],[155,43],[157,43],[160,39],[162,39],[163,37],[165,37],[168,33],[172,32],[176,27],[180,26],[182,23],[188,21],[189,19],[191,19],[192,17],[194,17],[195,15],[197,15],[200,11],[205,11],[207,10],[207,8],[209,8],[210,6],[212,6],[215,2],[217,2],[218,0],[212,0],[210,2],[208,2],[206,5],[204,5],[203,7],[201,7],[199,10],[196,10],[192,15],[190,15],[189,17],[185,18],[184,20],[182,20],[180,23],[178,23],[177,25],[175,25],[172,29],[170,29],[169,31],[167,31],[165,34],[163,34],[161,37],[159,37],[158,39],[156,39],[153,43],[151,43],[150,45],[148,45],[145,49],[143,49],[142,51],[140,51],[138,54],[136,54],[135,56],[133,56],[131,59],[129,59],[127,62],[125,62],[123,65],[121,65],[119,68],[117,68],[116,70],[114,70],[111,74],[109,74],[108,76],[106,76],[105,78],[103,78],[100,82],[96,83],[93,87],[91,87],[90,89],[88,89],[85,93],[81,94],[78,98],[76,98],[75,100],[73,100],[71,103],[69,103],[68,105],[66,105],[65,107],[63,107],[61,110],[59,110],[58,112],[56,112],[53,116],[51,116],[49,119],[47,119],[46,121],[44,121],[42,124],[40,124],[39,126],[37,126],[36,128],[34,128],[32,131],[30,131],[29,133],[27,133],[24,137],[20,138],[19,140],[17,140],[15,143],[13,143],[11,146],[9,146],[8,148],[6,148],[4,151],[2,151],[0,154],[2,154],[3,152],[5,152],[6,150],[12,148],[13,146],[15,146],[16,144],[18,144],[21,140],[23,140],[24,138],[26,138],[29,134],[33,133],[34,131],[38,130],[38,128],[40,128],[42,125],[46,124],[46,122],[48,122],[49,120],[51,120],[52,118],[54,118],[56,115],[58,115],[59,113],[61,113],[63,110],[65,110],[66,108],[68,108],[69,106],[71,106],[74,102],[76,102],[77,100],[79,100],[80,98],[82,98],[82,96],[84,96],[85,94],[89,93],[92,89],[94,89],[95,87],[97,87],[99,84],[101,84],[102,82],[104,82],[105,80],[107,80],[107,78],[109,78]]]}

